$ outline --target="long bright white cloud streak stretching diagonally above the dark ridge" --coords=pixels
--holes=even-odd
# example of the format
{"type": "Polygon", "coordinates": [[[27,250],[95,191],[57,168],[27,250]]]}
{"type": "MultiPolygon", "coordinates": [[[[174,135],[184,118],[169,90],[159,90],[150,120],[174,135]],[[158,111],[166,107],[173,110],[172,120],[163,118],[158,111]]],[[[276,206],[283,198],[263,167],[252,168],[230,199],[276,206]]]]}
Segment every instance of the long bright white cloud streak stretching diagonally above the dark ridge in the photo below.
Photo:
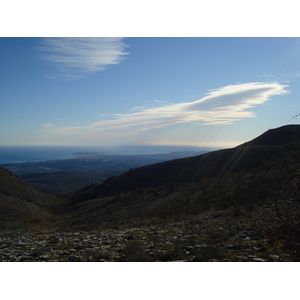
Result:
{"type": "Polygon", "coordinates": [[[49,127],[43,131],[48,139],[61,137],[70,142],[88,142],[89,139],[100,142],[174,124],[227,125],[254,117],[254,107],[270,100],[271,96],[289,93],[286,87],[277,82],[228,85],[211,90],[193,102],[114,114],[114,120],[103,120],[89,126],[49,127]]]}

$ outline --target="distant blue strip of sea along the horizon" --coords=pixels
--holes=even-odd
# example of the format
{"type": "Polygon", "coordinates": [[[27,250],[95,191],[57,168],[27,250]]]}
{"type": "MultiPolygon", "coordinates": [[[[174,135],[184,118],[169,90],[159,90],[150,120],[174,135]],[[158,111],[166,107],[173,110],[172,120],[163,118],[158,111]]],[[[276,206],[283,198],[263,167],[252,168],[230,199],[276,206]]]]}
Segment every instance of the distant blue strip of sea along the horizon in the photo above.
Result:
{"type": "Polygon", "coordinates": [[[78,157],[81,153],[113,155],[157,154],[177,151],[211,151],[213,149],[185,146],[0,146],[0,164],[47,161],[78,157]]]}

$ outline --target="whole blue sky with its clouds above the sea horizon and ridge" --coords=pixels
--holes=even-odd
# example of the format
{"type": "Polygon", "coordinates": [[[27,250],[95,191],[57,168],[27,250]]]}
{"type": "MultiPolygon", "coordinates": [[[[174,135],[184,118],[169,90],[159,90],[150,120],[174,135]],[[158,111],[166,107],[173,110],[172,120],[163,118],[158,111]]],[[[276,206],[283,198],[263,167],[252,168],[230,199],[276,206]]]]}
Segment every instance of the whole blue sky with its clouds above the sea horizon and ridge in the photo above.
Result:
{"type": "Polygon", "coordinates": [[[1,145],[232,147],[299,123],[299,38],[0,38],[1,145]]]}

